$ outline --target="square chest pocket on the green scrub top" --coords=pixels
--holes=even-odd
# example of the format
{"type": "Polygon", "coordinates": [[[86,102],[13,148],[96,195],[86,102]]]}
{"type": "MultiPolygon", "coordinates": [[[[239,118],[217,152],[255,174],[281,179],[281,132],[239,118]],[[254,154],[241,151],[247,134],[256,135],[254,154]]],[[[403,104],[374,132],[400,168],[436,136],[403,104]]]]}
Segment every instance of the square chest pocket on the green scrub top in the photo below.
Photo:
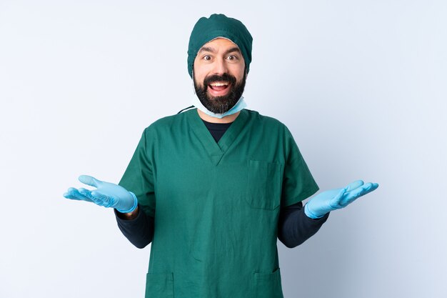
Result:
{"type": "Polygon", "coordinates": [[[248,161],[246,201],[251,208],[276,209],[281,202],[281,164],[248,161]]]}

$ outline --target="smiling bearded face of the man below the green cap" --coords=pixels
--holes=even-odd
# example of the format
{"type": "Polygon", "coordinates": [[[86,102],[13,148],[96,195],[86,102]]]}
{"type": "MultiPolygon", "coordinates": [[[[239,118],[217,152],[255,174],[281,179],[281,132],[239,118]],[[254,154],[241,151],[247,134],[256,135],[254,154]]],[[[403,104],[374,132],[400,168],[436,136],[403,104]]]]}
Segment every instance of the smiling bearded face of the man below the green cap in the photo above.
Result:
{"type": "Polygon", "coordinates": [[[223,114],[241,98],[246,81],[245,61],[233,41],[218,38],[204,44],[193,69],[196,95],[209,111],[223,114]]]}

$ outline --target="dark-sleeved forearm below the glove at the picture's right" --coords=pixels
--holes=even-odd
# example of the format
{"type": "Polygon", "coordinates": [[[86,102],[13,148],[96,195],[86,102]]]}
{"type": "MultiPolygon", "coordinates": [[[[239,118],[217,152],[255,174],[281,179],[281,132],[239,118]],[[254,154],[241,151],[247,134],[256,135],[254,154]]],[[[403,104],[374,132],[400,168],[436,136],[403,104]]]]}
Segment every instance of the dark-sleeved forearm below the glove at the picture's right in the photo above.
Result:
{"type": "Polygon", "coordinates": [[[293,204],[281,209],[278,221],[278,239],[288,248],[297,247],[312,237],[328,219],[311,219],[304,213],[303,204],[293,204]]]}

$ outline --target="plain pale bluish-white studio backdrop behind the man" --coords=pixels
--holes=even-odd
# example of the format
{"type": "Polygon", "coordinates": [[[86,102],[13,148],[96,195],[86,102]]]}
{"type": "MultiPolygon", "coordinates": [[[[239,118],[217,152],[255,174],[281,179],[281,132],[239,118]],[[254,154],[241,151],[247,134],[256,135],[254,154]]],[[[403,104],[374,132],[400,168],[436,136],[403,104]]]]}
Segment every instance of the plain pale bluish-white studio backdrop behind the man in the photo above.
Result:
{"type": "Polygon", "coordinates": [[[224,13],[253,35],[248,109],[292,131],[321,190],[380,187],[294,249],[292,297],[447,297],[446,1],[0,0],[0,297],[143,297],[151,247],[111,209],[142,131],[189,106],[189,34],[224,13]]]}

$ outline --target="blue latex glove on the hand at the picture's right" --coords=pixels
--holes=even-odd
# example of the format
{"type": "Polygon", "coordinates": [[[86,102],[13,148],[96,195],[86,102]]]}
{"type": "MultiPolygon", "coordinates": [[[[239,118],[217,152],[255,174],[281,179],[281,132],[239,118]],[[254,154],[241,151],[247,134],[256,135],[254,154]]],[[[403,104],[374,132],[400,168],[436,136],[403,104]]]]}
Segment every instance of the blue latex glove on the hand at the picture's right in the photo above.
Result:
{"type": "Polygon", "coordinates": [[[377,189],[377,183],[357,180],[342,189],[331,189],[316,195],[304,207],[304,213],[311,219],[323,217],[326,213],[348,206],[356,199],[377,189]]]}

